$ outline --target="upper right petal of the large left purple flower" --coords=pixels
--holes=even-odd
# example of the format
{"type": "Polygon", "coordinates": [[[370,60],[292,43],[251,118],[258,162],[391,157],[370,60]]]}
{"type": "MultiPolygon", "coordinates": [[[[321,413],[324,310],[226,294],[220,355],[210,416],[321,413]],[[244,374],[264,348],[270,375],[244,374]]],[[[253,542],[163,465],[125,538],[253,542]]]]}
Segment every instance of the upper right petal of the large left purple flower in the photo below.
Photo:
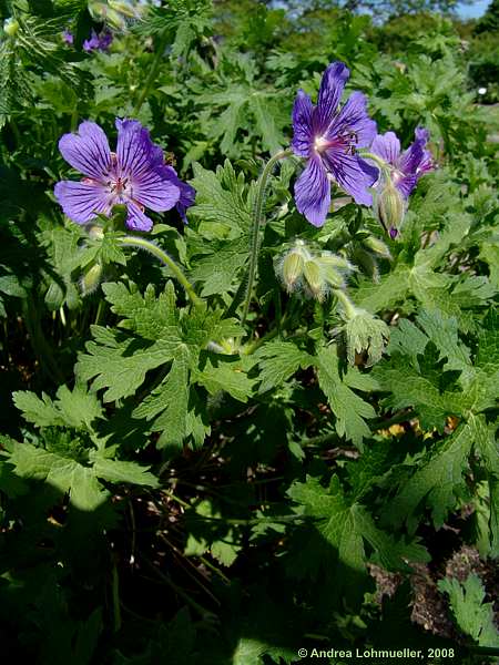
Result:
{"type": "Polygon", "coordinates": [[[116,119],[116,162],[121,177],[139,178],[152,166],[163,163],[163,151],[151,141],[138,120],[116,119]]]}

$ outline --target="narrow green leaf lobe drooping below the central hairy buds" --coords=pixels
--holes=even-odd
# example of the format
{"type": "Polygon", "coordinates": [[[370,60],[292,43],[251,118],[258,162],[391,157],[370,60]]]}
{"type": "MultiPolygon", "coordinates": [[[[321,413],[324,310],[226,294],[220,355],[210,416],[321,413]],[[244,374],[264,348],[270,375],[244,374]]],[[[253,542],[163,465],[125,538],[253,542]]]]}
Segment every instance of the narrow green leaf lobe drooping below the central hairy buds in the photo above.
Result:
{"type": "Polygon", "coordinates": [[[363,439],[370,436],[366,419],[375,418],[376,411],[348,387],[348,375],[355,370],[350,369],[342,379],[335,345],[319,349],[316,367],[320,389],[336,416],[336,431],[361,448],[363,439]]]}

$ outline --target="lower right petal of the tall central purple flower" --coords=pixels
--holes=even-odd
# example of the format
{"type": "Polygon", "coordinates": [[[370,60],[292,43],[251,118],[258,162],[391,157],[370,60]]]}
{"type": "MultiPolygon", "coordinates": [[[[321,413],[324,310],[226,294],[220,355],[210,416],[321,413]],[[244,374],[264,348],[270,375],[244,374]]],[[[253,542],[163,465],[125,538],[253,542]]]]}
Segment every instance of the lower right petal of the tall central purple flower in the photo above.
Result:
{"type": "Polygon", "coordinates": [[[323,160],[338,185],[354,197],[356,203],[371,205],[373,196],[367,191],[378,178],[378,170],[357,155],[340,150],[327,150],[323,160]]]}

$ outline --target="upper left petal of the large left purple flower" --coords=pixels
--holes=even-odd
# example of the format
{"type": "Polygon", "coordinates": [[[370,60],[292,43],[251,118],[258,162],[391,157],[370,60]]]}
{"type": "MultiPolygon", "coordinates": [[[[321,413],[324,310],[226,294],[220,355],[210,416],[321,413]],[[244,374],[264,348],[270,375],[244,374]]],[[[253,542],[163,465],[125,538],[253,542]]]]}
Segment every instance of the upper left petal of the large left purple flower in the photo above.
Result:
{"type": "Polygon", "coordinates": [[[73,168],[104,182],[111,168],[111,151],[103,130],[94,122],[82,122],[78,134],[64,134],[59,150],[73,168]]]}

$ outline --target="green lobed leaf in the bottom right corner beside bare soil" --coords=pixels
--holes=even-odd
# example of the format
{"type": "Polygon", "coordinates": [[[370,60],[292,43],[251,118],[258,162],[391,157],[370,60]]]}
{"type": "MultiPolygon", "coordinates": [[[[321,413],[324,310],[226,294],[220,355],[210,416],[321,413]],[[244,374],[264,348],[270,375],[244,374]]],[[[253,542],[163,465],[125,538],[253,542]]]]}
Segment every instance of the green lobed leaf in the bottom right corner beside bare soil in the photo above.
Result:
{"type": "Polygon", "coordinates": [[[460,583],[445,577],[438,587],[449,596],[450,607],[458,627],[480,646],[498,647],[499,631],[493,621],[492,603],[485,603],[486,592],[475,573],[460,583]]]}

